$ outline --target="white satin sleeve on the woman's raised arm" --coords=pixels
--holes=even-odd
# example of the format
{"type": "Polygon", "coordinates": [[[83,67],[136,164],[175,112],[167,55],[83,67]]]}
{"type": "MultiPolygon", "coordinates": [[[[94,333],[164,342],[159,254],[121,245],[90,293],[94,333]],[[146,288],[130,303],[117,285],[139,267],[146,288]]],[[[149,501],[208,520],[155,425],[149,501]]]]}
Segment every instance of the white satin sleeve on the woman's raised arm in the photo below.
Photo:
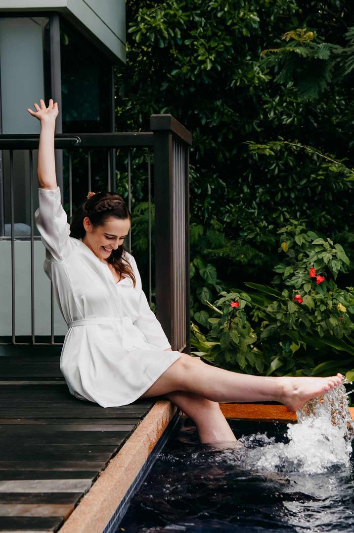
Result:
{"type": "Polygon", "coordinates": [[[61,205],[60,189],[38,189],[39,207],[35,221],[50,259],[64,261],[75,245],[70,239],[68,217],[61,205]]]}

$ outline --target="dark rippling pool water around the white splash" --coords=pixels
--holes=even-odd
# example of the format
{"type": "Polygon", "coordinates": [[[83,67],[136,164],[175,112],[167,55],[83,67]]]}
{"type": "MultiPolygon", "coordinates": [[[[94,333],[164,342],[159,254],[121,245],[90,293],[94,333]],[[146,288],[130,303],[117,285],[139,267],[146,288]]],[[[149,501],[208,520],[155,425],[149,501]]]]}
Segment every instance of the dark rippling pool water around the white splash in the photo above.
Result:
{"type": "Polygon", "coordinates": [[[202,445],[182,419],[117,531],[354,531],[352,459],[322,473],[294,472],[289,464],[250,469],[259,448],[289,442],[287,425],[228,422],[244,446],[202,445]]]}

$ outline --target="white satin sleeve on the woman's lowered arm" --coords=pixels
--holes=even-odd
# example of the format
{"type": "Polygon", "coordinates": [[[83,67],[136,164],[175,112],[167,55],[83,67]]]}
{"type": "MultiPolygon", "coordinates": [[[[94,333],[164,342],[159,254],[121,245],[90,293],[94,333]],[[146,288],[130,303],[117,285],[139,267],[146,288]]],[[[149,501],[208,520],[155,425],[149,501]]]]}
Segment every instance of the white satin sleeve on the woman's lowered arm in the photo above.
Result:
{"type": "Polygon", "coordinates": [[[133,256],[129,255],[129,262],[133,267],[136,286],[135,289],[139,292],[139,316],[134,320],[134,325],[137,326],[146,337],[147,342],[153,344],[160,350],[171,348],[168,338],[164,334],[162,326],[156,318],[153,311],[150,309],[149,302],[142,289],[142,281],[138,271],[136,261],[133,256]]]}

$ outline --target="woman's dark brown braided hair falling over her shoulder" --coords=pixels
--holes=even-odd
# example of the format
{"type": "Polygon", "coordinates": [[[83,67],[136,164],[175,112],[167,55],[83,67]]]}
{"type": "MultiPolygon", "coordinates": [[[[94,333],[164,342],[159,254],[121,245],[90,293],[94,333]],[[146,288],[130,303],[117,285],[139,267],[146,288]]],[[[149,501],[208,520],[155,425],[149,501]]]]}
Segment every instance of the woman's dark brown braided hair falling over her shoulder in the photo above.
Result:
{"type": "MultiPolygon", "coordinates": [[[[125,201],[116,192],[97,192],[81,204],[71,217],[71,237],[75,237],[76,239],[83,239],[85,237],[85,216],[88,216],[94,228],[103,226],[110,217],[116,217],[121,220],[131,219],[125,201]]],[[[117,250],[112,250],[107,261],[120,274],[127,274],[133,280],[135,287],[136,279],[130,263],[125,259],[124,245],[121,244],[117,250]]]]}

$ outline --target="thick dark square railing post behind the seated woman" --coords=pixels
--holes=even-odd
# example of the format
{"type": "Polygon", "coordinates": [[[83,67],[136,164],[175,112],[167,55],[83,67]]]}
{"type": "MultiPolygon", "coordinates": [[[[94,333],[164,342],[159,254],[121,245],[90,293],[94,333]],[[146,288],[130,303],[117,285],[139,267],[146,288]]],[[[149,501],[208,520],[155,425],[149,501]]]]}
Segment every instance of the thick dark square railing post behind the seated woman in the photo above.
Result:
{"type": "Polygon", "coordinates": [[[173,350],[190,352],[189,149],[191,133],[152,115],[156,314],[173,350]]]}

